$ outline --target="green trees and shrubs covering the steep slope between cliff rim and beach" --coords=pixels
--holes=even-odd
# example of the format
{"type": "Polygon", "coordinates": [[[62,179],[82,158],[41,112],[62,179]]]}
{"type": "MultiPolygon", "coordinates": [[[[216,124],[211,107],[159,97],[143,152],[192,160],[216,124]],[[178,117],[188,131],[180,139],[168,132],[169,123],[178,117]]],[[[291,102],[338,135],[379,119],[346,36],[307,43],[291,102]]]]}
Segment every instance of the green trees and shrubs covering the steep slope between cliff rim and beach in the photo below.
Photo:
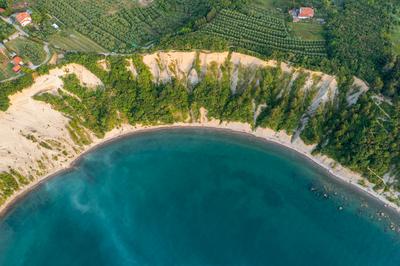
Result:
{"type": "Polygon", "coordinates": [[[193,68],[202,73],[197,84],[185,79],[156,84],[138,56],[131,58],[138,72],[136,78],[126,69],[125,58],[109,58],[110,72],[98,67],[98,59],[85,55],[69,58],[96,73],[104,87],[89,90],[81,87],[76,77],[68,76],[63,89],[68,93],[60,90],[58,95],[37,97],[72,118],[74,128],[83,131],[78,134],[81,138],[74,136],[77,143],[88,141],[85,128],[102,136],[122,122],[155,125],[198,121],[200,107],[204,107],[209,118],[240,121],[289,134],[304,128],[301,138],[318,144],[316,152],[362,173],[377,185],[376,189],[399,186],[397,181],[384,183],[383,176],[400,174],[400,103],[385,102],[370,92],[351,105],[347,95],[356,89],[352,79],[339,79],[335,100],[310,113],[320,77],[307,72],[250,69],[227,60],[220,67],[211,64],[206,73],[194,64],[193,68]],[[239,81],[233,86],[235,72],[239,81]],[[311,85],[308,82],[309,88],[304,90],[307,80],[311,85]],[[308,123],[304,123],[305,117],[308,123]]]}

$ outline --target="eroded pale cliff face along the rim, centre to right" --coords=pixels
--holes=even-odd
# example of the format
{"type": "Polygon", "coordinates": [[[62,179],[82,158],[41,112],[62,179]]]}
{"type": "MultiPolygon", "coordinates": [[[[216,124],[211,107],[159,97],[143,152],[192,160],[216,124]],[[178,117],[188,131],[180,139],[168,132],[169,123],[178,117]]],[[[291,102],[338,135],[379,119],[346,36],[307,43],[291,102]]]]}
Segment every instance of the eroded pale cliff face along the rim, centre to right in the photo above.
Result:
{"type": "MultiPolygon", "coordinates": [[[[243,69],[257,69],[271,67],[280,67],[283,72],[291,73],[291,82],[295,80],[300,72],[308,74],[308,79],[302,90],[308,91],[311,88],[317,88],[316,96],[312,104],[308,107],[303,116],[303,123],[300,131],[296,132],[299,135],[301,130],[307,124],[308,118],[312,116],[321,105],[333,100],[338,95],[338,87],[336,78],[332,75],[327,75],[322,72],[310,71],[306,69],[294,68],[286,63],[280,63],[275,60],[262,60],[249,55],[240,53],[207,53],[207,52],[158,52],[147,54],[143,57],[143,62],[149,67],[154,82],[169,82],[172,78],[186,81],[189,85],[197,84],[201,81],[207,67],[211,64],[216,64],[221,67],[229,60],[231,71],[231,90],[236,91],[238,85],[243,82],[240,72],[243,69]],[[196,66],[198,60],[198,66],[196,66]],[[200,70],[200,71],[199,71],[200,70]],[[200,73],[199,73],[200,72],[200,73]]],[[[291,83],[288,85],[290,87],[291,83]]],[[[282,88],[282,93],[284,89],[282,88]]],[[[348,103],[354,104],[357,102],[361,94],[368,90],[368,86],[362,80],[355,78],[353,90],[349,92],[348,103]]]]}

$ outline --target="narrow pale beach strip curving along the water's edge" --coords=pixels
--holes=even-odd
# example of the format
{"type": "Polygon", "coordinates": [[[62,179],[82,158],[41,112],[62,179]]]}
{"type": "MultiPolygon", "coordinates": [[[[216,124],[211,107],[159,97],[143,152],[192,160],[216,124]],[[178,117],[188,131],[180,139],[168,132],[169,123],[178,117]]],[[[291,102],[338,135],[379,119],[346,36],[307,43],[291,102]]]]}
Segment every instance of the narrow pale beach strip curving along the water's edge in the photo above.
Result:
{"type": "Polygon", "coordinates": [[[204,123],[176,123],[171,125],[160,125],[160,126],[127,126],[124,125],[118,129],[114,129],[111,132],[108,132],[103,139],[96,139],[93,141],[91,145],[88,145],[84,148],[84,151],[77,154],[71,160],[65,163],[63,167],[56,167],[49,171],[48,174],[43,177],[38,178],[37,180],[31,182],[29,185],[22,187],[18,190],[14,195],[9,197],[2,206],[0,206],[0,219],[4,218],[15,205],[24,199],[31,191],[39,187],[42,183],[48,181],[49,179],[59,176],[64,173],[68,173],[72,171],[76,165],[83,159],[83,157],[91,153],[101,147],[104,147],[113,142],[119,141],[124,138],[129,138],[134,136],[135,134],[142,134],[156,130],[169,130],[169,129],[179,129],[179,128],[202,128],[209,129],[214,131],[225,131],[230,133],[243,134],[245,136],[255,138],[257,140],[265,141],[267,143],[272,143],[277,145],[280,148],[287,149],[289,151],[295,152],[296,155],[304,158],[309,161],[312,166],[319,168],[321,171],[325,172],[329,178],[335,179],[336,181],[342,183],[342,185],[348,185],[348,187],[354,191],[357,191],[363,196],[368,197],[379,205],[382,205],[382,208],[390,211],[391,214],[399,215],[400,207],[395,205],[394,203],[387,200],[384,196],[378,194],[377,192],[371,190],[370,188],[363,187],[357,182],[359,180],[360,175],[357,173],[353,173],[348,169],[340,166],[336,163],[336,166],[331,166],[332,163],[335,164],[335,161],[326,157],[326,156],[314,156],[311,154],[313,146],[305,145],[304,143],[291,143],[290,136],[283,132],[275,132],[271,129],[257,129],[253,131],[250,125],[245,123],[237,123],[237,122],[220,122],[220,121],[209,121],[204,123]],[[344,172],[343,172],[344,171],[344,172]]]}

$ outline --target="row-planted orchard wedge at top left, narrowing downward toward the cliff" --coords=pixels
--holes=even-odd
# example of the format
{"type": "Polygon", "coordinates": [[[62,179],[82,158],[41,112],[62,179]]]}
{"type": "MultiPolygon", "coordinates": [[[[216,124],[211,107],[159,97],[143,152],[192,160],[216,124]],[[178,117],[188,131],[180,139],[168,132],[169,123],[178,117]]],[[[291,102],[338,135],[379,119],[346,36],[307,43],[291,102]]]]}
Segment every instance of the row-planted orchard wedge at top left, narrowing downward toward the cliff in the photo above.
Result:
{"type": "Polygon", "coordinates": [[[35,7],[114,52],[127,52],[207,13],[208,1],[37,0],[35,7]]]}

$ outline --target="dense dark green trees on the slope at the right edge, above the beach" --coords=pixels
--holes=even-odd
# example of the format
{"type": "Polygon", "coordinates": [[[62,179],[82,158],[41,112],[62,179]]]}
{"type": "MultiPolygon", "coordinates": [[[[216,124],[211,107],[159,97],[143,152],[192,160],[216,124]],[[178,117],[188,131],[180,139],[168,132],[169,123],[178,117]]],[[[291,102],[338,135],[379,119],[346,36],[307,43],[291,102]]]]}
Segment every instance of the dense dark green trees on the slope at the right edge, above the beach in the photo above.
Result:
{"type": "Polygon", "coordinates": [[[400,104],[377,101],[364,95],[349,110],[320,121],[325,133],[317,151],[383,186],[386,173],[400,174],[400,104]]]}

